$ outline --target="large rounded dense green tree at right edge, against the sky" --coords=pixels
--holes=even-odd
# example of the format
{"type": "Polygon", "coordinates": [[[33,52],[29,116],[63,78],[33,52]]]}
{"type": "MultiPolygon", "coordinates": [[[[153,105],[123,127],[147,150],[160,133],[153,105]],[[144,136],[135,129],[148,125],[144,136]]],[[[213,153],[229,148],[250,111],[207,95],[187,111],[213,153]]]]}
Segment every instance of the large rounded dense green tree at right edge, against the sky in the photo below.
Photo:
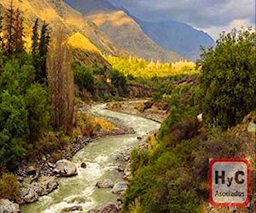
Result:
{"type": "Polygon", "coordinates": [[[223,33],[215,49],[202,49],[195,92],[205,122],[227,129],[256,108],[256,34],[223,33]]]}

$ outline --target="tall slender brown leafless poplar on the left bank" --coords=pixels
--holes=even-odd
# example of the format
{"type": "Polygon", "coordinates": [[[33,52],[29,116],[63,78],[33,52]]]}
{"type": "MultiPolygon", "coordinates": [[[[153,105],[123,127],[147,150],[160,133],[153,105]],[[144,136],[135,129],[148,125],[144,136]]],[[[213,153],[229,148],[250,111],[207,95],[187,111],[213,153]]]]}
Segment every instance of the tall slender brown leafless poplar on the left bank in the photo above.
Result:
{"type": "Polygon", "coordinates": [[[72,56],[65,44],[65,33],[56,27],[51,43],[47,69],[52,92],[51,107],[55,130],[62,128],[67,134],[73,130],[74,86],[72,56]]]}

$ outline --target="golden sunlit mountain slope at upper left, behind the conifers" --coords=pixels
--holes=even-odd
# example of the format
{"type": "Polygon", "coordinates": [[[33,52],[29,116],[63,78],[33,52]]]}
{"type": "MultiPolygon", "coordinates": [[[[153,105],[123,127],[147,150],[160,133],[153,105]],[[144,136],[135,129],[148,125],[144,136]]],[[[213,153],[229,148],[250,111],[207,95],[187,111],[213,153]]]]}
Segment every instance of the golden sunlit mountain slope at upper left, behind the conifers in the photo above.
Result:
{"type": "MultiPolygon", "coordinates": [[[[27,41],[30,41],[29,36],[32,32],[34,21],[39,19],[41,24],[43,21],[49,23],[51,31],[55,31],[56,28],[60,27],[64,29],[70,46],[74,51],[79,50],[80,54],[76,55],[79,58],[76,58],[76,60],[86,65],[94,66],[99,63],[110,67],[108,61],[103,58],[102,52],[111,55],[127,55],[124,50],[116,47],[94,23],[62,0],[22,0],[13,1],[13,3],[14,7],[19,8],[23,13],[27,41]],[[79,33],[80,36],[78,37],[76,33],[79,33]],[[70,41],[84,43],[88,48],[84,48],[84,45],[76,45],[74,47],[70,41]]],[[[9,9],[9,4],[9,0],[0,0],[2,9],[9,9]]],[[[27,45],[29,45],[29,42],[27,45]]]]}

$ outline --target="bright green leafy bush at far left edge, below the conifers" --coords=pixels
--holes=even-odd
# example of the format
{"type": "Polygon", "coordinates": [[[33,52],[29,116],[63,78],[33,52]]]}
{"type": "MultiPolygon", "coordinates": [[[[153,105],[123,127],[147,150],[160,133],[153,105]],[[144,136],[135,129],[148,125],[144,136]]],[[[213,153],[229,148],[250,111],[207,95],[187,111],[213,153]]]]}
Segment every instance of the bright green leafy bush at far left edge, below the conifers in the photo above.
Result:
{"type": "Polygon", "coordinates": [[[0,162],[9,170],[14,170],[25,156],[27,116],[24,98],[5,91],[0,104],[0,162]]]}

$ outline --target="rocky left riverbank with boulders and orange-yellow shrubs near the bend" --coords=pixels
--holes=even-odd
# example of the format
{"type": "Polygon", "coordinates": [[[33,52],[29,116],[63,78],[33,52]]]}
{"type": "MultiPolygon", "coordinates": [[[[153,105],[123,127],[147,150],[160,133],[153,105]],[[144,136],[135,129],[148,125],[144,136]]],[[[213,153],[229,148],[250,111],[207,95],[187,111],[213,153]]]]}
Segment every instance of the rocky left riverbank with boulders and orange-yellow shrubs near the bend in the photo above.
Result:
{"type": "MultiPolygon", "coordinates": [[[[96,138],[134,133],[131,127],[126,126],[118,118],[103,118],[92,115],[90,107],[79,106],[77,112],[90,114],[90,118],[96,119],[97,124],[93,135],[78,135],[75,139],[68,141],[67,146],[58,147],[54,152],[45,153],[43,156],[37,156],[30,160],[23,160],[19,169],[14,173],[18,180],[15,186],[20,188],[15,195],[15,203],[27,204],[35,202],[38,200],[38,196],[51,193],[58,187],[57,177],[61,175],[56,172],[55,163],[57,160],[71,160],[79,150],[96,138]],[[111,126],[109,130],[104,128],[106,124],[111,126]]],[[[17,205],[12,204],[8,199],[2,199],[0,202],[0,211],[16,212],[18,209],[17,205]]]]}

